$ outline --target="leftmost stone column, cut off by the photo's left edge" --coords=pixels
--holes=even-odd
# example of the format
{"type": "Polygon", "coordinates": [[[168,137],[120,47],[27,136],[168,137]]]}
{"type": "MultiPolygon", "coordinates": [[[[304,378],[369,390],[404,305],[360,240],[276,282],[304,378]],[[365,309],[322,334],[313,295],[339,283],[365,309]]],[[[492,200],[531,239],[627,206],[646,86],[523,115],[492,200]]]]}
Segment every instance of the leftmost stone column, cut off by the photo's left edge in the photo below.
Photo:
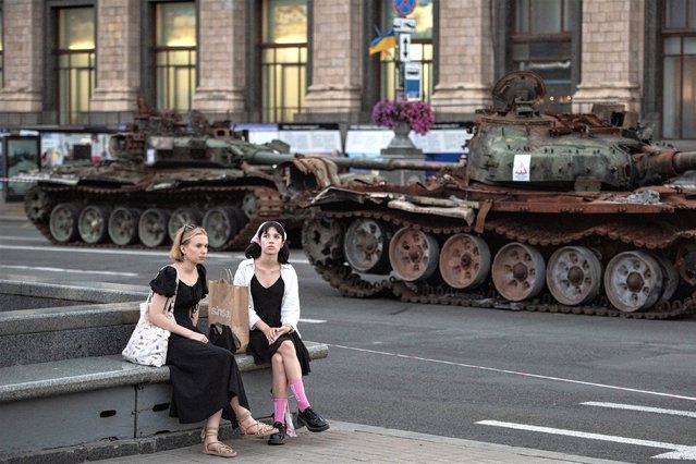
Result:
{"type": "Polygon", "coordinates": [[[39,112],[44,88],[44,2],[4,0],[4,87],[0,111],[39,112]]]}

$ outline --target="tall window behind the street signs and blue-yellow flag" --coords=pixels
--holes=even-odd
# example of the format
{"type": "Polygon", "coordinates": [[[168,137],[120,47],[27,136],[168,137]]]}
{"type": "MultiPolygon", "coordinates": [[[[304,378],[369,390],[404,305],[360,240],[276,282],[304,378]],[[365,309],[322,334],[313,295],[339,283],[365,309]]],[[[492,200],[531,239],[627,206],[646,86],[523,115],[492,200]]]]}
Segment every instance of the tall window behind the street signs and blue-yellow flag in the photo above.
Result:
{"type": "MultiPolygon", "coordinates": [[[[394,16],[393,0],[381,0],[380,27],[382,33],[392,28],[394,16]]],[[[410,61],[420,63],[420,95],[425,101],[432,96],[432,29],[435,0],[419,0],[413,13],[407,17],[416,20],[416,33],[411,36],[410,61]]],[[[393,100],[396,98],[396,49],[391,49],[380,62],[380,96],[393,100]]]]}

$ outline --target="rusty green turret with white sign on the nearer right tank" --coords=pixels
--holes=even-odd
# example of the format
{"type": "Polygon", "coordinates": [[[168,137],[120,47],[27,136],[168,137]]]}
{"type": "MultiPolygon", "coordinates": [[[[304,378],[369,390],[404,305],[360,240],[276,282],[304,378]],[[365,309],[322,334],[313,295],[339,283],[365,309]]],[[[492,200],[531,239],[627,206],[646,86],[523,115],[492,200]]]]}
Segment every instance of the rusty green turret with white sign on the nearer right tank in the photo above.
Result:
{"type": "Polygon", "coordinates": [[[529,188],[625,190],[662,183],[696,168],[696,154],[666,150],[636,131],[595,114],[540,114],[541,78],[517,72],[493,88],[493,111],[471,139],[467,171],[473,181],[529,188]]]}

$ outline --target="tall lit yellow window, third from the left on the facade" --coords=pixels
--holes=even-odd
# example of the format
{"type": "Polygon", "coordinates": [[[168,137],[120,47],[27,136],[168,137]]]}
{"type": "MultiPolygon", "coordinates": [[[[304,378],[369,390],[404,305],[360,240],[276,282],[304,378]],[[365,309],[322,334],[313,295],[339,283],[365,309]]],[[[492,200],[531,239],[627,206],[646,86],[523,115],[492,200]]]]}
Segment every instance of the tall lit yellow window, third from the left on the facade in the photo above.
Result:
{"type": "Polygon", "coordinates": [[[261,120],[292,122],[307,91],[307,0],[265,0],[261,21],[261,120]]]}

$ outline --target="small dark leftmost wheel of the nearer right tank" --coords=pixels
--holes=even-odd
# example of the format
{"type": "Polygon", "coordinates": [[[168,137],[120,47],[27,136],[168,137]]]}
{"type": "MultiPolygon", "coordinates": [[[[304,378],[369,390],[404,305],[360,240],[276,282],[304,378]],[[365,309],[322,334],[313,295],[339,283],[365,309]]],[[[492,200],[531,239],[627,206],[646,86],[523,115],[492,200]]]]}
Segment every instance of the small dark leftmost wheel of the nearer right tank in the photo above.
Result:
{"type": "Polygon", "coordinates": [[[313,212],[302,225],[302,248],[312,264],[328,266],[338,260],[343,262],[342,236],[343,230],[338,221],[313,212]]]}

